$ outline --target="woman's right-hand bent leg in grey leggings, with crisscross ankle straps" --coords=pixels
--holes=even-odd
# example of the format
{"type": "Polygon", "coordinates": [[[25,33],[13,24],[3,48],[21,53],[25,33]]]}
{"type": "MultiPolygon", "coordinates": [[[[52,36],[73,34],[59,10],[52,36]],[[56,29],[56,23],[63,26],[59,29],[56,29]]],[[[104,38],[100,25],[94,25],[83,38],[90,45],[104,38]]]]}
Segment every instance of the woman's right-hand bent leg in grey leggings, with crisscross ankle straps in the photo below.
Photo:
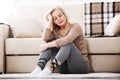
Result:
{"type": "Polygon", "coordinates": [[[50,67],[56,68],[57,65],[62,67],[62,64],[65,64],[64,66],[68,68],[68,72],[65,73],[88,73],[89,71],[89,63],[83,59],[79,50],[73,43],[62,46],[59,49],[50,67]],[[64,63],[65,61],[67,61],[67,66],[64,63]]]}

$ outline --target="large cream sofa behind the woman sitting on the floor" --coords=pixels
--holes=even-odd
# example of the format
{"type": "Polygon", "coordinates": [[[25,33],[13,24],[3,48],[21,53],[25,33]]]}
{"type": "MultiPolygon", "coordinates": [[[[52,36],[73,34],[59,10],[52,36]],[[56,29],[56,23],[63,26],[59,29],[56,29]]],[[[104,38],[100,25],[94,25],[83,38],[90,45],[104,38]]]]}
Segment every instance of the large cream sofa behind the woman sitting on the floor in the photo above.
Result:
{"type": "MultiPolygon", "coordinates": [[[[63,7],[71,23],[77,22],[84,30],[84,5],[63,7]],[[71,14],[72,13],[72,14],[71,14]]],[[[31,72],[39,58],[39,47],[45,26],[44,16],[53,5],[20,5],[9,25],[0,25],[0,72],[31,72]]],[[[85,37],[91,72],[120,72],[120,37],[85,37]]]]}

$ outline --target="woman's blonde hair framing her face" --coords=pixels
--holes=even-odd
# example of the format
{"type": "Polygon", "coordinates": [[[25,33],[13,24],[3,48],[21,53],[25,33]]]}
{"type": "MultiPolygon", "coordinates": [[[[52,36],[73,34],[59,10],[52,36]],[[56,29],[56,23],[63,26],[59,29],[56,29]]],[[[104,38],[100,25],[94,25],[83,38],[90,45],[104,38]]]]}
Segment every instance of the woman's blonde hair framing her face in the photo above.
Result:
{"type": "MultiPolygon", "coordinates": [[[[46,16],[45,16],[45,20],[46,20],[47,22],[48,22],[48,15],[49,15],[49,14],[52,14],[55,10],[60,10],[60,11],[63,13],[63,15],[66,17],[66,21],[68,22],[68,17],[67,17],[67,15],[66,15],[65,11],[64,11],[61,7],[59,7],[59,6],[53,7],[53,8],[51,8],[51,9],[48,11],[48,13],[47,13],[46,16]]],[[[52,27],[51,27],[51,31],[53,31],[53,30],[56,28],[56,26],[57,26],[57,25],[55,25],[55,23],[53,22],[52,27]]]]}

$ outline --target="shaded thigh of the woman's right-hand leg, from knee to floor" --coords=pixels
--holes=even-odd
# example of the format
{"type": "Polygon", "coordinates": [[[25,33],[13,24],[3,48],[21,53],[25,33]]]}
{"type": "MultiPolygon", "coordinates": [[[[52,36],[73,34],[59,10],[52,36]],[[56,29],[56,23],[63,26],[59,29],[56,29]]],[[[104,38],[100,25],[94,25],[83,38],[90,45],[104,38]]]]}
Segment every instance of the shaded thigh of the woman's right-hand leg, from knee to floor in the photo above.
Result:
{"type": "Polygon", "coordinates": [[[74,44],[71,44],[71,50],[67,64],[71,73],[89,72],[89,63],[83,59],[82,54],[74,44]]]}

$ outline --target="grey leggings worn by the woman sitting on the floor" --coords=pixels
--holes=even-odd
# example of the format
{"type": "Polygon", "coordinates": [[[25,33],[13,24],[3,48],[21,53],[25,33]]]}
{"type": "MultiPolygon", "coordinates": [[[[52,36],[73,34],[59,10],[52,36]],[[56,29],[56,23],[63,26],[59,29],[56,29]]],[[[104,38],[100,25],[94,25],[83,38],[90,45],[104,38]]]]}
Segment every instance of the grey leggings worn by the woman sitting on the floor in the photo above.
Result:
{"type": "Polygon", "coordinates": [[[38,66],[44,68],[51,59],[54,62],[61,61],[56,70],[60,73],[88,73],[89,63],[85,61],[74,43],[58,48],[49,48],[40,53],[38,66]]]}

